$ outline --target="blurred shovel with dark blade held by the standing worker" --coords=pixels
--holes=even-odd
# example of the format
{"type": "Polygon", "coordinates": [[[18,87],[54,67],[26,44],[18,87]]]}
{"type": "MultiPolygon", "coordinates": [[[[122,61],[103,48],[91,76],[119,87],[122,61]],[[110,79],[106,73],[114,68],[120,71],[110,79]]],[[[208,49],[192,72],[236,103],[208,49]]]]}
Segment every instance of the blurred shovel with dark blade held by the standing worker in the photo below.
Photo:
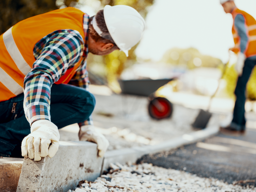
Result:
{"type": "MultiPolygon", "coordinates": [[[[223,78],[223,76],[224,76],[224,74],[226,72],[227,64],[224,65],[223,74],[222,74],[222,77],[220,79],[223,78]]],[[[209,102],[209,105],[207,107],[207,110],[205,111],[205,110],[200,109],[199,114],[197,115],[197,117],[195,118],[194,123],[192,124],[193,128],[197,128],[197,129],[204,129],[204,128],[206,128],[206,126],[207,126],[207,124],[208,124],[208,122],[209,122],[209,120],[211,118],[211,115],[212,115],[212,113],[209,112],[209,109],[211,107],[211,102],[212,102],[213,97],[215,97],[217,91],[219,90],[219,84],[218,84],[218,87],[217,87],[215,93],[210,98],[210,102],[209,102]]]]}

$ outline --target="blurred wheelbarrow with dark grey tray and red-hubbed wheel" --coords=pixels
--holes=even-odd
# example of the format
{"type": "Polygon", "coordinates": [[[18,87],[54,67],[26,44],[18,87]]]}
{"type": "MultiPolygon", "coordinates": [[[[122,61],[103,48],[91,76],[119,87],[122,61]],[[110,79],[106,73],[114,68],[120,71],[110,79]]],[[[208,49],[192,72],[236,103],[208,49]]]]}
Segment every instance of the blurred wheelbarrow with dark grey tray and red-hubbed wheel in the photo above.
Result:
{"type": "Polygon", "coordinates": [[[122,94],[138,95],[148,97],[148,112],[153,119],[161,120],[170,118],[173,113],[172,103],[164,97],[155,97],[155,92],[174,80],[171,79],[139,79],[139,80],[121,80],[119,84],[122,90],[122,94]]]}

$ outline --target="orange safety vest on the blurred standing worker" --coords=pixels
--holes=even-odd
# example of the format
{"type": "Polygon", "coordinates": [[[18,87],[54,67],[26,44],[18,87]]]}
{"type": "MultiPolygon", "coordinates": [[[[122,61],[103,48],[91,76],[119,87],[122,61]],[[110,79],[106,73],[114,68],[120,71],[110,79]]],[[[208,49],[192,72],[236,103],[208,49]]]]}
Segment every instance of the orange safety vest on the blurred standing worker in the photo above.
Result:
{"type": "MultiPolygon", "coordinates": [[[[245,20],[245,27],[247,28],[247,36],[249,37],[247,48],[245,50],[246,57],[256,55],[256,20],[248,13],[235,8],[232,11],[232,16],[235,21],[237,14],[242,14],[245,20]]],[[[235,27],[235,22],[232,27],[232,34],[235,42],[235,47],[232,49],[233,52],[240,52],[240,37],[235,27]]]]}

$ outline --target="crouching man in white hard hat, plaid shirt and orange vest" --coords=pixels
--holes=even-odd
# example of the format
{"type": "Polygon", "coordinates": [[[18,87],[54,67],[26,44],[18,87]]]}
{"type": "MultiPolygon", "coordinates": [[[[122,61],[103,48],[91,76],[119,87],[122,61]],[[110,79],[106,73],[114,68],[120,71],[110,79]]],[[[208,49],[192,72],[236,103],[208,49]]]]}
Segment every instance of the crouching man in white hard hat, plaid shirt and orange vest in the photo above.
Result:
{"type": "Polygon", "coordinates": [[[102,157],[109,143],[90,118],[95,98],[87,89],[86,57],[116,49],[128,56],[144,29],[135,9],[107,5],[94,17],[72,7],[54,10],[2,34],[0,156],[53,157],[58,129],[78,123],[79,140],[97,143],[102,157]]]}

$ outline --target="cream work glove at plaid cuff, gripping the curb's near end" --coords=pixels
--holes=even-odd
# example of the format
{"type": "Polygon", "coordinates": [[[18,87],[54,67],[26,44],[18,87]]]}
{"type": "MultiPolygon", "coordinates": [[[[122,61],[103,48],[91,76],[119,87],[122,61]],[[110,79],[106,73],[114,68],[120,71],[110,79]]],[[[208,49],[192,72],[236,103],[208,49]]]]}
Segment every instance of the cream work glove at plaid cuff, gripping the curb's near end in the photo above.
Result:
{"type": "Polygon", "coordinates": [[[56,125],[48,120],[37,120],[31,126],[31,134],[22,140],[22,156],[28,155],[35,161],[40,161],[41,157],[47,155],[52,158],[58,151],[59,140],[60,134],[56,125]]]}

